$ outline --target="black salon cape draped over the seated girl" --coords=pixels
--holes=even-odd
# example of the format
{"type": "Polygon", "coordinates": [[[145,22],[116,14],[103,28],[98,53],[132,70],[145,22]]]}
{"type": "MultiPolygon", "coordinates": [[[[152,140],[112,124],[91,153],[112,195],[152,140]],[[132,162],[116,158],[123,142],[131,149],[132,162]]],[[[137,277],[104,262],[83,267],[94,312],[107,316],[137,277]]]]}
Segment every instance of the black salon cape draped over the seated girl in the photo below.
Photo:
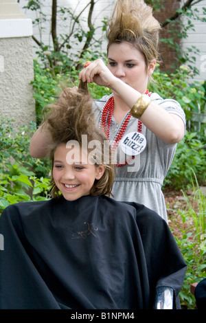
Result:
{"type": "Polygon", "coordinates": [[[144,205],[92,196],[13,204],[0,234],[0,309],[152,309],[161,286],[179,304],[185,261],[144,205]]]}

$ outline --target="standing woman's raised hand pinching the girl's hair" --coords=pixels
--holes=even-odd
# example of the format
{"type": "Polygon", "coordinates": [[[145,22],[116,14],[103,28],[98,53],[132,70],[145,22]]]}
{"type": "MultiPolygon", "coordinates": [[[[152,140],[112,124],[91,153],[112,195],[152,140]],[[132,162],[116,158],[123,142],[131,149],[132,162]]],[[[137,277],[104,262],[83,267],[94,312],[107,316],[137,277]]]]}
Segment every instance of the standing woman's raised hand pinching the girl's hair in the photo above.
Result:
{"type": "Polygon", "coordinates": [[[95,82],[102,87],[112,87],[116,78],[100,58],[84,66],[84,69],[80,71],[79,80],[87,83],[95,82]]]}

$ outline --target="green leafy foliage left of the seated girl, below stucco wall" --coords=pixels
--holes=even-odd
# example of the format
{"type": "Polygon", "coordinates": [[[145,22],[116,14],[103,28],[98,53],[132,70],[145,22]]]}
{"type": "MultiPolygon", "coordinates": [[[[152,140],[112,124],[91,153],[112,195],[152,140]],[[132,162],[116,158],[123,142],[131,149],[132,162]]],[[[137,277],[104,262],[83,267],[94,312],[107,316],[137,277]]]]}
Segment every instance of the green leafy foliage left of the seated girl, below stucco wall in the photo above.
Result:
{"type": "Polygon", "coordinates": [[[50,162],[30,156],[36,124],[14,128],[12,120],[0,124],[0,212],[12,203],[49,197],[50,162]]]}

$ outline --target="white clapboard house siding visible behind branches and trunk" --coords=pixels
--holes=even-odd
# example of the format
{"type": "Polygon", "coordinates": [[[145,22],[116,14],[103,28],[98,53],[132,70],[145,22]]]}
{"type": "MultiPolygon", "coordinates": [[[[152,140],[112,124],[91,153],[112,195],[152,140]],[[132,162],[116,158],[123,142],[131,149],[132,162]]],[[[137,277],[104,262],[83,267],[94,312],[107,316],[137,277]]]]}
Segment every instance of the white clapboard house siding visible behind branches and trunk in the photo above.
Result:
{"type": "MultiPolygon", "coordinates": [[[[183,1],[183,0],[182,0],[183,1]]],[[[27,18],[34,19],[34,16],[36,14],[35,11],[26,10],[23,9],[23,6],[27,4],[27,0],[20,0],[20,7],[21,12],[26,14],[27,18]]],[[[183,1],[184,2],[184,1],[183,1]]],[[[52,14],[52,0],[45,0],[43,1],[44,7],[42,8],[43,12],[46,14],[46,16],[51,16],[52,14]]],[[[72,8],[74,14],[78,14],[84,6],[89,3],[89,0],[58,0],[59,6],[65,6],[67,8],[72,8]]],[[[93,22],[95,24],[96,29],[96,38],[100,38],[102,36],[102,30],[101,28],[98,28],[102,26],[102,19],[104,16],[111,16],[111,12],[113,10],[113,5],[115,3],[115,0],[98,0],[96,1],[94,11],[93,11],[93,22]]],[[[203,16],[203,7],[206,7],[206,0],[203,0],[195,5],[195,8],[198,8],[200,11],[200,16],[203,16]]],[[[84,25],[85,31],[88,30],[87,27],[87,14],[89,12],[89,7],[87,10],[85,10],[84,14],[81,17],[84,17],[85,22],[82,23],[84,25]]],[[[196,56],[196,67],[200,71],[200,75],[196,76],[196,80],[206,80],[206,24],[201,23],[200,21],[194,21],[195,25],[195,31],[189,31],[188,37],[186,39],[183,39],[182,41],[182,47],[183,50],[187,50],[187,47],[191,47],[192,45],[196,46],[200,53],[196,56]]],[[[47,45],[52,45],[52,36],[50,33],[51,25],[50,20],[43,23],[42,27],[45,28],[42,36],[43,43],[47,45]]],[[[71,31],[71,25],[69,25],[69,21],[65,21],[62,23],[62,21],[59,21],[58,24],[58,33],[63,31],[65,33],[65,30],[69,34],[71,31]]],[[[39,37],[39,30],[38,27],[33,27],[34,36],[40,41],[39,37]]],[[[35,43],[34,43],[35,45],[35,43]]],[[[36,45],[35,45],[36,46],[36,45]]],[[[83,43],[76,43],[75,46],[73,46],[73,54],[76,53],[77,50],[82,49],[83,43]]],[[[36,47],[38,48],[38,47],[36,47]]],[[[35,53],[34,49],[34,53],[35,53]]],[[[102,44],[101,48],[98,48],[98,50],[101,50],[102,52],[106,52],[106,41],[102,44]]],[[[35,54],[34,54],[35,55],[35,54]]]]}

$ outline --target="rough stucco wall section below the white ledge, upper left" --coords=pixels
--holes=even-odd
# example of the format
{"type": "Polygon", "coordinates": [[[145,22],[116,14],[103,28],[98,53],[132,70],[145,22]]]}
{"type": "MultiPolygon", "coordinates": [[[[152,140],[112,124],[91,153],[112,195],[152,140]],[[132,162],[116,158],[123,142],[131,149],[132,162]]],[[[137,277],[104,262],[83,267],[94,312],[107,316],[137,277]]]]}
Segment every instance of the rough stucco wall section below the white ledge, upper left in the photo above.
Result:
{"type": "Polygon", "coordinates": [[[36,120],[32,37],[0,38],[0,115],[15,125],[36,120]]]}

